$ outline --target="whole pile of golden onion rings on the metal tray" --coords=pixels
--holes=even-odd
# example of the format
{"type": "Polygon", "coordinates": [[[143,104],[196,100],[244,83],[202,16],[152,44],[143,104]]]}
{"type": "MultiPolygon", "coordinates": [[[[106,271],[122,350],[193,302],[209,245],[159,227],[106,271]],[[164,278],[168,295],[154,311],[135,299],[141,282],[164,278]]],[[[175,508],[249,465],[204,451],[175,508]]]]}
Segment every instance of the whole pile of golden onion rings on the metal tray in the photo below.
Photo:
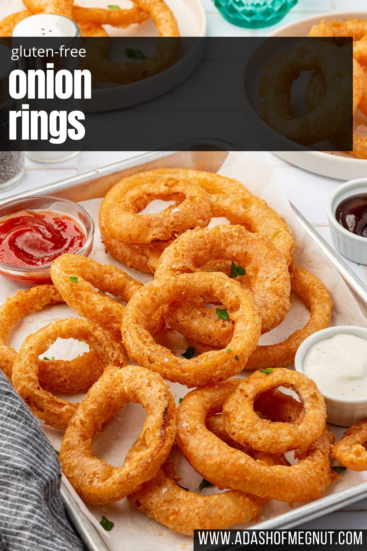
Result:
{"type": "Polygon", "coordinates": [[[39,419],[65,431],[59,458],[81,499],[98,505],[126,497],[189,535],[254,521],[271,499],[318,499],[338,478],[330,468],[334,436],[315,383],[287,367],[299,344],[328,326],[332,301],[325,285],[295,264],[284,220],[236,180],[160,169],[112,187],[99,222],[106,250],[154,273],[149,283],[66,253],[51,266],[52,285],[18,291],[0,306],[0,367],[39,419]],[[169,203],[140,214],[155,199],[169,203]],[[220,217],[229,224],[211,227],[220,217]],[[283,342],[259,345],[261,333],[286,318],[291,291],[310,319],[283,342]],[[19,352],[10,348],[23,316],[58,302],[83,317],[52,322],[26,337],[19,352]],[[185,353],[166,347],[165,331],[188,339],[185,353]],[[86,341],[89,352],[41,360],[57,337],[86,341]],[[231,379],[243,370],[253,373],[231,379]],[[171,383],[184,385],[177,410],[171,383]],[[60,391],[86,394],[72,402],[60,391]],[[140,403],[147,417],[125,460],[113,466],[95,456],[93,444],[128,402],[140,403]],[[198,476],[227,491],[180,487],[179,450],[198,476]]]}

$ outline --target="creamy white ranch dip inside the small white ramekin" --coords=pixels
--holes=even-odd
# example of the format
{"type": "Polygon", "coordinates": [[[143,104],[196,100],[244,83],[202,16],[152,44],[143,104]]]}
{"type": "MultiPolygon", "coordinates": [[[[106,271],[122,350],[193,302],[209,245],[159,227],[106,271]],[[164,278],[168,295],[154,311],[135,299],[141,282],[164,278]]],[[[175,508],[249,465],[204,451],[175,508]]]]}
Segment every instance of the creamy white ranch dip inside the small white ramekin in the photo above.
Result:
{"type": "Polygon", "coordinates": [[[303,372],[320,392],[341,398],[367,397],[367,340],[339,333],[311,346],[303,372]]]}

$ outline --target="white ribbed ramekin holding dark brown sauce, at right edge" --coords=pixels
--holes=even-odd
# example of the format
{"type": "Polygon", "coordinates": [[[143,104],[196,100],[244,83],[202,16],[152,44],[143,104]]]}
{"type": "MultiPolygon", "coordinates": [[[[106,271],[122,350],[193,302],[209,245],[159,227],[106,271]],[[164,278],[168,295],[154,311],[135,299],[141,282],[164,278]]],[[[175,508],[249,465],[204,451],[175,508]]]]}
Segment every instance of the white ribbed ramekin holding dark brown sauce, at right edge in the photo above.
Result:
{"type": "Polygon", "coordinates": [[[335,210],[338,204],[343,199],[359,195],[360,193],[366,193],[367,195],[367,177],[350,180],[338,186],[328,199],[326,211],[331,238],[336,250],[349,258],[349,260],[353,260],[359,264],[367,264],[367,238],[353,234],[351,231],[343,228],[335,218],[335,210]]]}

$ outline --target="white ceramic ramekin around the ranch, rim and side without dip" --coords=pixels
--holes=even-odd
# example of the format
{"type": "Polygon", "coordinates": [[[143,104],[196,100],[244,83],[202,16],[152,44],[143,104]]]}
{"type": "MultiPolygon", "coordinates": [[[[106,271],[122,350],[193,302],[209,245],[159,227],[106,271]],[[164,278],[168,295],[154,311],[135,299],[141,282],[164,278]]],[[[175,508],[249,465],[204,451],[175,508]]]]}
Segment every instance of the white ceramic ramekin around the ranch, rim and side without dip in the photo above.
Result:
{"type": "MultiPolygon", "coordinates": [[[[305,355],[313,344],[324,341],[324,339],[330,339],[339,333],[347,333],[367,340],[367,329],[364,327],[342,325],[321,329],[321,331],[317,331],[306,338],[298,348],[294,358],[295,370],[303,373],[305,355]]],[[[347,365],[346,369],[348,369],[347,365]]],[[[317,381],[315,381],[315,383],[317,385],[317,381]]],[[[365,398],[341,398],[339,396],[331,396],[324,393],[322,393],[322,396],[325,398],[328,423],[339,426],[350,426],[367,418],[367,388],[365,398]]]]}

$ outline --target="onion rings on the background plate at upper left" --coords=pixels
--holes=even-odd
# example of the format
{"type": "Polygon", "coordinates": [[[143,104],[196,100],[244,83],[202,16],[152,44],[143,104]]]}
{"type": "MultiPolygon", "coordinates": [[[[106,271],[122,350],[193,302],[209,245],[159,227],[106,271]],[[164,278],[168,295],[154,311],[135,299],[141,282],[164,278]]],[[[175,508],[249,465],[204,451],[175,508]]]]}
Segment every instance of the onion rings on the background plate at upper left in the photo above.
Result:
{"type": "Polygon", "coordinates": [[[79,26],[83,37],[99,37],[90,41],[86,48],[86,57],[81,61],[81,69],[90,69],[97,83],[128,84],[143,80],[165,71],[177,62],[179,57],[180,36],[177,21],[164,0],[136,0],[130,9],[86,8],[76,6],[73,0],[24,0],[26,7],[0,21],[0,36],[12,36],[13,29],[21,20],[39,13],[59,14],[72,19],[79,26]],[[157,33],[164,39],[158,39],[157,48],[152,57],[146,57],[139,63],[108,59],[108,33],[103,25],[118,28],[129,27],[151,19],[157,33]],[[171,37],[171,40],[167,40],[171,37]]]}

